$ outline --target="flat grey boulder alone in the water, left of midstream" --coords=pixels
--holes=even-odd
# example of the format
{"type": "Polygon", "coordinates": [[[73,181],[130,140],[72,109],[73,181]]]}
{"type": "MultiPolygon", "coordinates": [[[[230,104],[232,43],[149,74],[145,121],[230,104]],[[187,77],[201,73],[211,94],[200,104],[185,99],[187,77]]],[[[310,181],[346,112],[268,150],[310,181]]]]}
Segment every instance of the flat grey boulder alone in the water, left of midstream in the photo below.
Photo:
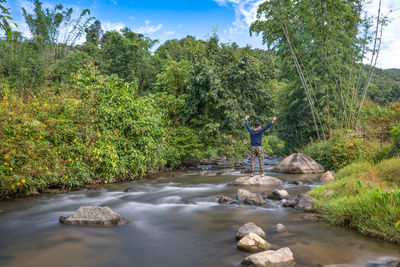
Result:
{"type": "Polygon", "coordinates": [[[123,225],[129,223],[109,207],[82,206],[70,217],[60,216],[60,223],[77,225],[123,225]]]}

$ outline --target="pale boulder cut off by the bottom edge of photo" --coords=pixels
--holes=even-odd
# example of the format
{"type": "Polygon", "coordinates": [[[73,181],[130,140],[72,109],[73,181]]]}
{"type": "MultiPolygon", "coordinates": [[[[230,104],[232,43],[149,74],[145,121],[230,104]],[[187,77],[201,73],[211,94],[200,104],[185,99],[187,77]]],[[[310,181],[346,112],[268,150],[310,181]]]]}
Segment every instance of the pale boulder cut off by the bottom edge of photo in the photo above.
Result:
{"type": "Polygon", "coordinates": [[[266,250],[247,256],[242,261],[244,266],[254,267],[289,267],[294,265],[293,253],[289,248],[266,250]]]}

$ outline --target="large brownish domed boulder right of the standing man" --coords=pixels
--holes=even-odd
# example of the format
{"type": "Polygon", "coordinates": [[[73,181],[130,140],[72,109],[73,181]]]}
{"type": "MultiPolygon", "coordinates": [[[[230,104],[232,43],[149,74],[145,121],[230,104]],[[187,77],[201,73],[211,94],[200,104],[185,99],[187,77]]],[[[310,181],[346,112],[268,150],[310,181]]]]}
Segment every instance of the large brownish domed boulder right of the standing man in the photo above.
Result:
{"type": "Polygon", "coordinates": [[[281,173],[323,173],[325,169],[309,156],[302,153],[294,153],[284,158],[271,171],[281,173]]]}

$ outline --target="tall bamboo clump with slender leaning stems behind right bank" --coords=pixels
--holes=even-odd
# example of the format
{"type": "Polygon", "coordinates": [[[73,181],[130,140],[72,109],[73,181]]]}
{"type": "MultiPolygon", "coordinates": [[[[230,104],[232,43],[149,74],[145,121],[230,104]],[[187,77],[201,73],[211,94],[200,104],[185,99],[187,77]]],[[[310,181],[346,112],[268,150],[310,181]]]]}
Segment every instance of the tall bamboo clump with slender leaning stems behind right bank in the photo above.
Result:
{"type": "MultiPolygon", "coordinates": [[[[289,88],[302,91],[288,94],[296,97],[289,102],[308,106],[301,108],[303,113],[285,111],[298,116],[297,122],[293,121],[296,125],[288,122],[285,130],[294,131],[298,122],[308,121],[311,124],[304,124],[302,132],[325,139],[337,127],[355,127],[358,107],[368,88],[360,89],[357,75],[370,37],[360,34],[363,28],[368,33],[370,27],[369,21],[361,18],[361,10],[361,0],[271,0],[259,6],[250,31],[262,34],[264,43],[282,57],[289,88]],[[310,127],[314,131],[307,129],[310,127]]],[[[380,27],[375,33],[382,29],[379,12],[377,22],[380,27]]],[[[378,50],[374,45],[373,54],[378,50]]]]}

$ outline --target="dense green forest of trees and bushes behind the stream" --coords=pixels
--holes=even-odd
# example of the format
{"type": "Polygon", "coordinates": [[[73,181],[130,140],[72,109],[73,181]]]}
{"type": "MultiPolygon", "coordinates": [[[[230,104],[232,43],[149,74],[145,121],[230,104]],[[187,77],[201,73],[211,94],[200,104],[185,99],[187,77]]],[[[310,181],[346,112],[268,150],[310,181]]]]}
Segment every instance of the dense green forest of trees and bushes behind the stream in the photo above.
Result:
{"type": "Polygon", "coordinates": [[[246,115],[278,118],[264,139],[271,156],[306,151],[337,170],[398,155],[399,70],[363,63],[387,21],[363,18],[360,1],[263,3],[249,33],[265,49],[222,43],[212,29],[162,44],[104,32],[90,10],[74,17],[39,0],[22,9],[26,38],[1,7],[0,198],[240,160],[246,115]],[[383,148],[353,138],[382,124],[394,140],[383,148]]]}

